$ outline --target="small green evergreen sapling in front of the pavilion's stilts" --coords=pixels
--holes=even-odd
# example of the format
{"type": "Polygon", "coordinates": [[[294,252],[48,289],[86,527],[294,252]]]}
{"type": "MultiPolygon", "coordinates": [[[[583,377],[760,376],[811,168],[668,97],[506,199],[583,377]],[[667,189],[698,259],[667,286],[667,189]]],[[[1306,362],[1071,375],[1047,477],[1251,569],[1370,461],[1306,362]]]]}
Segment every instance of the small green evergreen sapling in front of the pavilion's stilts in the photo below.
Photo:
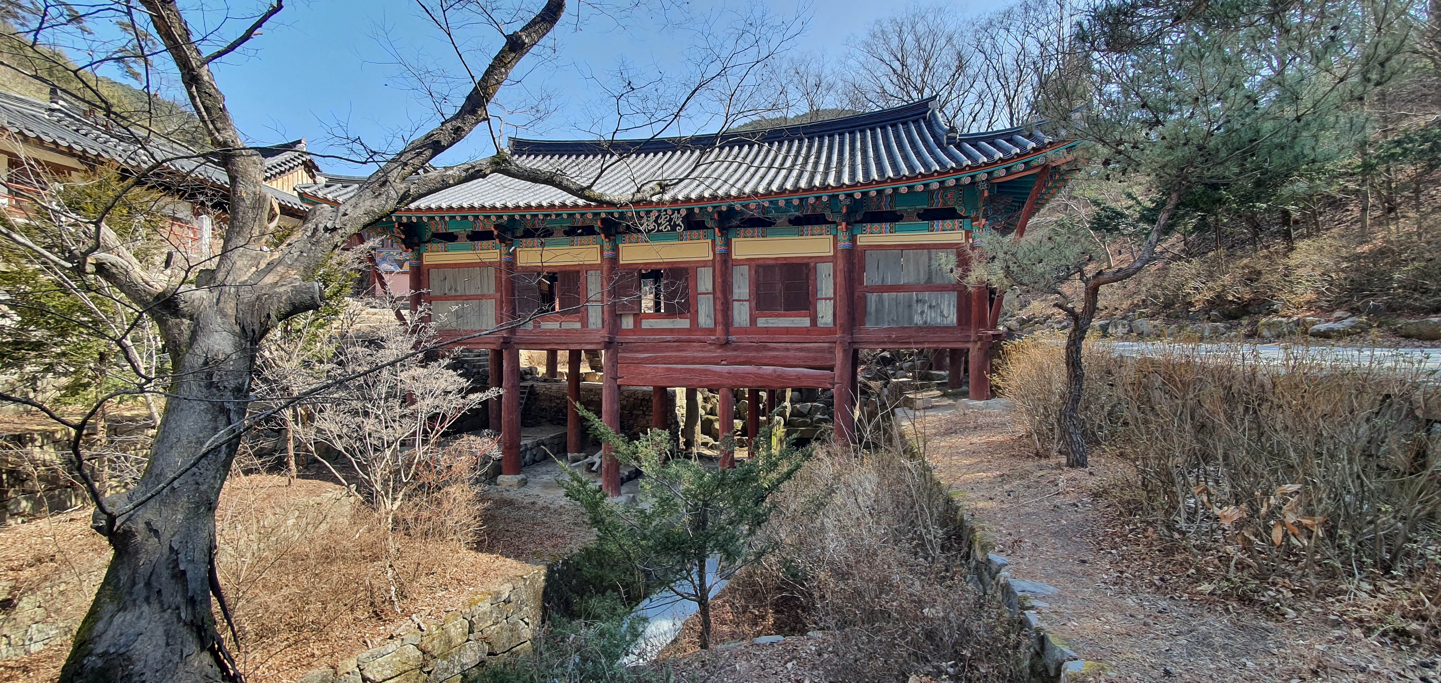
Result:
{"type": "Polygon", "coordinates": [[[715,578],[729,578],[759,559],[768,548],[755,535],[771,519],[772,494],[795,476],[811,448],[794,438],[771,445],[771,428],[752,439],[755,452],[732,468],[718,468],[676,450],[669,432],[651,429],[628,439],[576,406],[591,432],[611,445],[617,460],[638,467],[638,504],[617,506],[579,470],[566,468],[565,494],[581,503],[599,535],[657,585],[696,602],[700,648],[710,647],[710,589],[715,578]],[[708,562],[715,563],[713,576],[708,562]]]}

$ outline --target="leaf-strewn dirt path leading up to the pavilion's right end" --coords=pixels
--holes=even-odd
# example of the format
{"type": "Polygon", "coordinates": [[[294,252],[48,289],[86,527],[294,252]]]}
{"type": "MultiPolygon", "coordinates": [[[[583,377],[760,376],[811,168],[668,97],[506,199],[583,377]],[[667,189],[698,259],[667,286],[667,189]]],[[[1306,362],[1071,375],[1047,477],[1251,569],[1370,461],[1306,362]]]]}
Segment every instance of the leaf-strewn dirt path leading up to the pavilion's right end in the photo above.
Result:
{"type": "MultiPolygon", "coordinates": [[[[1059,589],[1039,598],[1042,622],[1118,682],[1441,680],[1434,656],[1366,640],[1330,620],[1326,602],[1295,614],[1195,592],[1189,556],[1166,556],[1150,532],[1095,493],[1118,463],[1065,470],[1038,458],[1010,412],[922,419],[928,458],[990,527],[1014,578],[1059,589]]],[[[1429,653],[1434,654],[1434,653],[1429,653]]]]}

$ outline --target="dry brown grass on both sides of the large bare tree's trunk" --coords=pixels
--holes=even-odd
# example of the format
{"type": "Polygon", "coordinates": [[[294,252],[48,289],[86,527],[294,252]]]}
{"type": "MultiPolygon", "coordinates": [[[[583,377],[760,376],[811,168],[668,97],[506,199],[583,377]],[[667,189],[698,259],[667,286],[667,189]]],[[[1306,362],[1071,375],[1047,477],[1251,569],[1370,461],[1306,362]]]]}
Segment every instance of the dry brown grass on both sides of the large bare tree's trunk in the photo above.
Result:
{"type": "MultiPolygon", "coordinates": [[[[48,602],[59,597],[56,618],[78,624],[110,553],[88,523],[85,512],[0,530],[0,581],[46,591],[48,602]]],[[[398,552],[388,561],[373,510],[343,487],[314,480],[232,477],[216,523],[218,569],[239,634],[228,644],[256,683],[295,680],[353,657],[408,627],[412,614],[440,617],[471,592],[535,569],[444,535],[393,535],[398,552]]],[[[65,641],[3,661],[0,680],[55,680],[68,648],[65,641]]]]}

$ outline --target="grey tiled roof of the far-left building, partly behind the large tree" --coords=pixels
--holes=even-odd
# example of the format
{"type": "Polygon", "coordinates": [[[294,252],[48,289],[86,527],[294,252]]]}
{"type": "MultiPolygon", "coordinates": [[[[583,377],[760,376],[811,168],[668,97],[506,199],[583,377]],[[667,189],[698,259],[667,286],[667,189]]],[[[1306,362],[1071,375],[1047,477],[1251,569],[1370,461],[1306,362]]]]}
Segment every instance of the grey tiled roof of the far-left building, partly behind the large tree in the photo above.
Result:
{"type": "MultiPolygon", "coordinates": [[[[86,115],[68,104],[42,102],[12,92],[0,92],[0,127],[14,135],[40,140],[68,150],[78,157],[114,161],[124,167],[143,167],[157,159],[195,154],[195,150],[143,128],[107,124],[104,118],[86,115]]],[[[308,160],[304,140],[272,146],[265,156],[265,179],[282,176],[308,160]]],[[[205,157],[177,159],[166,167],[179,174],[176,180],[197,179],[203,184],[226,187],[225,169],[205,157]]],[[[265,187],[282,206],[305,209],[288,192],[265,187]]]]}

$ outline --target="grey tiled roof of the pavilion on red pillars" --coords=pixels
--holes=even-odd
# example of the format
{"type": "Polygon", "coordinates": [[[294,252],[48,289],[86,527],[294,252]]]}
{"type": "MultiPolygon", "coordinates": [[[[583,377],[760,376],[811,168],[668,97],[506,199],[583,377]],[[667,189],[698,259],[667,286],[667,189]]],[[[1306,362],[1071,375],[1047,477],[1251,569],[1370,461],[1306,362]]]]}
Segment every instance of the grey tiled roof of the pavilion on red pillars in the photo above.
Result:
{"type": "MultiPolygon", "coordinates": [[[[983,174],[999,180],[1043,163],[1048,154],[1068,146],[1045,133],[1042,125],[957,134],[941,121],[935,101],[924,99],[827,121],[709,135],[624,141],[517,138],[512,140],[510,153],[520,164],[563,170],[585,182],[599,173],[595,189],[617,195],[656,180],[679,179],[656,202],[631,207],[676,209],[968,182],[983,174]]],[[[327,176],[324,183],[297,190],[313,202],[339,203],[349,199],[362,180],[327,176]]],[[[398,213],[586,209],[608,207],[549,186],[491,176],[438,192],[398,213]]]]}

